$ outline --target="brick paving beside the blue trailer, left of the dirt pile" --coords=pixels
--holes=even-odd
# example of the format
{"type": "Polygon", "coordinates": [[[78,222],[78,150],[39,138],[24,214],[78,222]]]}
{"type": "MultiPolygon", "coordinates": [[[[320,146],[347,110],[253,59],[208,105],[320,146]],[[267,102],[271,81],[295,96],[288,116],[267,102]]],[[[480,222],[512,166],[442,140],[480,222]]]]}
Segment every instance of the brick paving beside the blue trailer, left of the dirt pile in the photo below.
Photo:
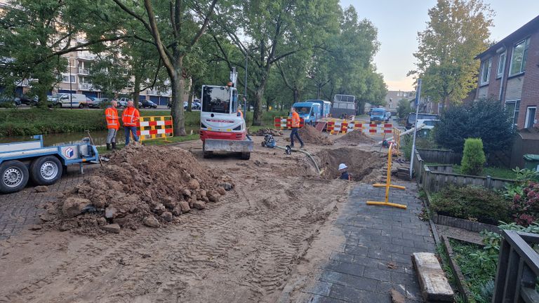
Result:
{"type": "Polygon", "coordinates": [[[84,175],[79,174],[79,166],[68,166],[67,174],[48,187],[48,191],[38,193],[32,184],[13,194],[0,194],[0,240],[9,238],[29,225],[38,224],[39,214],[45,203],[55,201],[62,191],[72,189],[91,175],[96,165],[84,166],[84,175]]]}

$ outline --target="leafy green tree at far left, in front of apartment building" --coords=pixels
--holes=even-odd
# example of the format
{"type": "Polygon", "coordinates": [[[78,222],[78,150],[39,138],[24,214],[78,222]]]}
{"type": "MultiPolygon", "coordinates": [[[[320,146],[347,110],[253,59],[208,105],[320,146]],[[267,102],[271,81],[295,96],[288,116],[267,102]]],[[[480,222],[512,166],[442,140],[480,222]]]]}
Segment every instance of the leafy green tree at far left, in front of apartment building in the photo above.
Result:
{"type": "Polygon", "coordinates": [[[32,81],[30,94],[45,105],[46,94],[67,69],[62,55],[89,48],[106,49],[128,35],[115,22],[102,22],[114,7],[90,0],[9,1],[0,11],[0,86],[32,81]]]}

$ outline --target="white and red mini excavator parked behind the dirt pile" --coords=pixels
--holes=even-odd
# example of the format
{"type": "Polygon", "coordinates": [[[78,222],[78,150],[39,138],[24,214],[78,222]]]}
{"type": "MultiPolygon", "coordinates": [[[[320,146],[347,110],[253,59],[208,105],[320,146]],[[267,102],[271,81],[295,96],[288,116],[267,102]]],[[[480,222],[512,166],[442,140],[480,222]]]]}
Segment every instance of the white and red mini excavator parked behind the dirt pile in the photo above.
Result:
{"type": "Polygon", "coordinates": [[[243,160],[251,158],[253,140],[238,111],[237,77],[233,67],[227,86],[202,86],[200,139],[204,158],[211,158],[214,152],[234,152],[243,160]]]}

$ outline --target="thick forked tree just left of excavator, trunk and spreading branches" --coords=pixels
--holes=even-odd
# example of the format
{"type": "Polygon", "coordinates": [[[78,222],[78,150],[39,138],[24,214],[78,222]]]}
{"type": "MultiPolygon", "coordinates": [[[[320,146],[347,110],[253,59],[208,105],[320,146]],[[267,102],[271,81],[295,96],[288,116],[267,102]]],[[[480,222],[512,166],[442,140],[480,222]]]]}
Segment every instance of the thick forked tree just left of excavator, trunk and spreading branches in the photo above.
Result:
{"type": "MultiPolygon", "coordinates": [[[[218,0],[204,4],[198,1],[144,0],[144,8],[134,3],[113,0],[123,11],[138,20],[152,36],[168,76],[171,79],[172,109],[175,135],[185,135],[182,97],[185,90],[184,60],[192,54],[206,32],[218,0]]],[[[139,37],[139,39],[144,39],[139,37]]]]}

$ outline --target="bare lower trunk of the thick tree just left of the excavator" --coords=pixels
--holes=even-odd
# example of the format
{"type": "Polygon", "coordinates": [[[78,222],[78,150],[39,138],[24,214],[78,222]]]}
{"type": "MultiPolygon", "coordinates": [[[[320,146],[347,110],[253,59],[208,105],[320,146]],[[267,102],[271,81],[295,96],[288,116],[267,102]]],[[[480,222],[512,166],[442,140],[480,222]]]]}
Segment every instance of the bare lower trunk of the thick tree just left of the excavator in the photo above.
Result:
{"type": "Polygon", "coordinates": [[[184,79],[182,77],[183,56],[175,61],[174,74],[171,76],[172,86],[172,109],[174,135],[185,135],[185,116],[183,113],[183,90],[184,79]]]}

